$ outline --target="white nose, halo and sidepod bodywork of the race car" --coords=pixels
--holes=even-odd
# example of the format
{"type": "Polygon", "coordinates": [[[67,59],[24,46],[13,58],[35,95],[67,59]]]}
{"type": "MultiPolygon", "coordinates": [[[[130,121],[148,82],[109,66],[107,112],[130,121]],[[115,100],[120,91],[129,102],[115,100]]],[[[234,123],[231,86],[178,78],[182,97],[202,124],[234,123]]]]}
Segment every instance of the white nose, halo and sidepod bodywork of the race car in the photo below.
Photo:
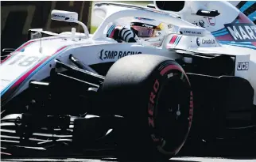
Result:
{"type": "MultiPolygon", "coordinates": [[[[64,63],[72,64],[68,59],[70,54],[90,66],[104,62],[115,62],[118,58],[126,55],[150,54],[173,59],[180,58],[181,56],[176,53],[176,50],[234,56],[235,76],[250,81],[254,88],[254,94],[256,94],[256,51],[254,49],[220,44],[211,34],[210,29],[209,32],[206,28],[184,21],[185,19],[181,20],[175,14],[165,11],[141,6],[107,6],[104,2],[99,3],[95,10],[106,12],[107,17],[93,35],[76,34],[76,36],[72,36],[72,32],[67,32],[47,38],[29,40],[17,48],[10,58],[2,62],[0,66],[1,96],[6,95],[10,89],[15,89],[12,92],[14,95],[11,98],[13,98],[28,88],[29,81],[41,81],[45,77],[49,77],[50,70],[56,65],[56,58],[64,63]],[[142,43],[118,43],[107,38],[104,31],[110,23],[115,22],[118,18],[137,17],[138,15],[140,17],[153,17],[158,21],[171,22],[178,27],[177,31],[166,36],[161,47],[145,47],[142,43]],[[174,37],[179,40],[170,43],[174,37]],[[204,41],[207,42],[203,43],[204,41]],[[29,60],[25,62],[27,58],[29,60]],[[32,63],[29,64],[29,62],[32,63]],[[248,68],[238,70],[239,62],[249,62],[248,68]],[[26,63],[29,65],[27,66],[26,63]],[[18,89],[16,89],[17,87],[18,89]]],[[[254,95],[254,105],[256,105],[256,95],[254,95]]]]}

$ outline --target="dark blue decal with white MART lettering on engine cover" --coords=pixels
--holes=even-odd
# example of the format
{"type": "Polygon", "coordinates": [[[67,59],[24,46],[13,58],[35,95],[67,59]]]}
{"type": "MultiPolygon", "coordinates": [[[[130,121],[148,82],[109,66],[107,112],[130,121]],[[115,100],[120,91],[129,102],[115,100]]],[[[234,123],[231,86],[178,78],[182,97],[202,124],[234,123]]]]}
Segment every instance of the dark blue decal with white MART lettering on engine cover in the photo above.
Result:
{"type": "Polygon", "coordinates": [[[235,42],[256,42],[256,26],[250,23],[224,24],[235,42]]]}

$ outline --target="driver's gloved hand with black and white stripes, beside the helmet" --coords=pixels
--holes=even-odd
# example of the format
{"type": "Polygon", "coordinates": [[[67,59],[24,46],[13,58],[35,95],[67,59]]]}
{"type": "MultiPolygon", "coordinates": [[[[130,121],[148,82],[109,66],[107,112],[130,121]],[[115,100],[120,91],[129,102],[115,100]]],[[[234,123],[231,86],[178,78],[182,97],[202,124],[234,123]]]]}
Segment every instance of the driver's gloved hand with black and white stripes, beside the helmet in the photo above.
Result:
{"type": "Polygon", "coordinates": [[[114,40],[122,40],[128,43],[136,43],[138,38],[134,31],[122,26],[114,25],[112,25],[107,31],[107,37],[113,38],[114,40]]]}

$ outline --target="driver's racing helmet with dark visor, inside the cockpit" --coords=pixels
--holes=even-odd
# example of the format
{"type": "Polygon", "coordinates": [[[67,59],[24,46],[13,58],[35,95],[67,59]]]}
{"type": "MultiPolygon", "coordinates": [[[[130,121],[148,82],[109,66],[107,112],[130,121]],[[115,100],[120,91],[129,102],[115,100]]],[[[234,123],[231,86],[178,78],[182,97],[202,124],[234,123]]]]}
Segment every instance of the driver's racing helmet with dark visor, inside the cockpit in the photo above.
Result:
{"type": "Polygon", "coordinates": [[[134,30],[143,45],[160,47],[165,36],[165,24],[154,19],[134,17],[130,22],[130,28],[134,30]]]}

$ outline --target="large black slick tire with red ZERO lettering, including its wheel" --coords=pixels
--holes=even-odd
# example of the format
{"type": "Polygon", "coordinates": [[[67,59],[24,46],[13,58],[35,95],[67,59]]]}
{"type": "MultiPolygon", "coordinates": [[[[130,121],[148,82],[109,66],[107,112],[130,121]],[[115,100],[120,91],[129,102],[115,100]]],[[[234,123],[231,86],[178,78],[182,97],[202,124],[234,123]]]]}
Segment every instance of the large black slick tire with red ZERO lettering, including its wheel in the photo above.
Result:
{"type": "Polygon", "coordinates": [[[157,55],[126,56],[111,66],[101,92],[105,113],[126,120],[117,139],[118,149],[125,150],[122,156],[169,159],[184,145],[193,97],[177,62],[157,55]]]}

